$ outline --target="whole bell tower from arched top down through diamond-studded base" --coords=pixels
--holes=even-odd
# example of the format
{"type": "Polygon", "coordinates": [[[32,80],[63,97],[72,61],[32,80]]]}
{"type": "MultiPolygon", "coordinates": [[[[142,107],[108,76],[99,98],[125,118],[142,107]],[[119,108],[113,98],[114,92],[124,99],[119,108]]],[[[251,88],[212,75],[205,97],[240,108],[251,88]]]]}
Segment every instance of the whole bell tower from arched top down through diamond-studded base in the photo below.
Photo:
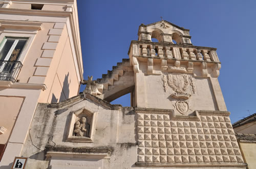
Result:
{"type": "Polygon", "coordinates": [[[165,20],[139,26],[129,49],[139,166],[243,167],[218,81],[216,48],[165,20]],[[152,42],[152,39],[158,42],[152,42]]]}

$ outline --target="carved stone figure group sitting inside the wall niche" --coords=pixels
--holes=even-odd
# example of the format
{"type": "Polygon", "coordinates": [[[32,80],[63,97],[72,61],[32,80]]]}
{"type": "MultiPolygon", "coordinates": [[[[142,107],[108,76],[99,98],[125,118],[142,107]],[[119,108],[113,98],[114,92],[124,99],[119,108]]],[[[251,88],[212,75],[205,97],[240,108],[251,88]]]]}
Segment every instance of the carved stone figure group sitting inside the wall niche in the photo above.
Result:
{"type": "Polygon", "coordinates": [[[74,125],[74,135],[75,136],[86,136],[90,135],[90,124],[87,121],[86,117],[82,117],[80,121],[76,121],[74,125]]]}

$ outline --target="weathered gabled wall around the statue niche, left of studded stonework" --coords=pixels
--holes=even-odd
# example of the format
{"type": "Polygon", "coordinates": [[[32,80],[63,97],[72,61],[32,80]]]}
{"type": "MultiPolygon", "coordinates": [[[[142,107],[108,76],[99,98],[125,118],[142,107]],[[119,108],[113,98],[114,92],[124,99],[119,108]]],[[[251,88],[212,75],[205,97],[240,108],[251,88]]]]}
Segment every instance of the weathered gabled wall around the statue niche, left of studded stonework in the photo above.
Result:
{"type": "MultiPolygon", "coordinates": [[[[58,161],[60,158],[58,156],[46,157],[47,151],[50,151],[49,149],[51,151],[61,150],[67,154],[79,148],[80,152],[86,152],[88,149],[95,151],[92,148],[99,151],[108,149],[111,151],[111,155],[107,157],[108,159],[100,159],[100,166],[104,166],[104,168],[112,168],[113,165],[122,166],[125,160],[127,167],[131,165],[132,161],[135,163],[137,159],[137,145],[135,139],[135,112],[133,108],[118,106],[120,110],[114,110],[108,109],[90,99],[78,99],[76,101],[72,101],[72,99],[70,101],[72,104],[59,108],[52,108],[49,104],[38,104],[22,152],[23,156],[29,157],[26,168],[48,168],[48,165],[52,167],[60,165],[58,161]],[[93,143],[66,141],[71,115],[74,111],[81,108],[98,113],[93,143]],[[134,159],[131,161],[129,157],[134,159]]],[[[70,157],[67,158],[71,160],[70,157]]],[[[87,158],[73,157],[71,161],[77,161],[73,167],[92,166],[92,162],[84,162],[88,160],[87,158]]],[[[65,159],[66,157],[61,158],[61,160],[65,159]]],[[[89,159],[96,160],[98,157],[92,156],[89,159]]],[[[71,163],[66,161],[61,165],[66,166],[71,165],[71,163]]],[[[97,164],[99,163],[97,162],[97,164]]]]}

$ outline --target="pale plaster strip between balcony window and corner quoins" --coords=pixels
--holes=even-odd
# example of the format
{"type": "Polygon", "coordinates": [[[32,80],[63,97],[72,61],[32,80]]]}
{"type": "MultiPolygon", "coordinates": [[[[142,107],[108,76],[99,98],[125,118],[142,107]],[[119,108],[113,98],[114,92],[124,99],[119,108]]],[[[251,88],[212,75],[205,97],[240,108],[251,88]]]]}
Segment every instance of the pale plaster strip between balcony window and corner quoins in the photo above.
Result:
{"type": "Polygon", "coordinates": [[[28,53],[26,54],[25,61],[23,62],[23,68],[20,70],[19,82],[27,83],[29,78],[33,76],[35,72],[35,63],[42,54],[42,45],[47,42],[49,36],[48,32],[53,27],[54,23],[43,23],[44,29],[37,32],[33,43],[31,44],[28,53]]]}

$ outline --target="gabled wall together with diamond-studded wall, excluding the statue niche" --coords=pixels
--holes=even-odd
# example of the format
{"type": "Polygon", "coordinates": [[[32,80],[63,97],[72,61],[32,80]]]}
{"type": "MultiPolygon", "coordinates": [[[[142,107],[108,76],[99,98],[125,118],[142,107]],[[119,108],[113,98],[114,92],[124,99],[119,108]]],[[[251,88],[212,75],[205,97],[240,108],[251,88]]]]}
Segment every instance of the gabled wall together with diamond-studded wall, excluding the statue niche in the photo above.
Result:
{"type": "Polygon", "coordinates": [[[227,112],[198,112],[186,121],[172,110],[121,107],[86,96],[38,104],[21,154],[29,157],[26,168],[224,168],[243,162],[227,112]],[[68,140],[72,117],[81,109],[97,113],[92,142],[68,140]]]}

